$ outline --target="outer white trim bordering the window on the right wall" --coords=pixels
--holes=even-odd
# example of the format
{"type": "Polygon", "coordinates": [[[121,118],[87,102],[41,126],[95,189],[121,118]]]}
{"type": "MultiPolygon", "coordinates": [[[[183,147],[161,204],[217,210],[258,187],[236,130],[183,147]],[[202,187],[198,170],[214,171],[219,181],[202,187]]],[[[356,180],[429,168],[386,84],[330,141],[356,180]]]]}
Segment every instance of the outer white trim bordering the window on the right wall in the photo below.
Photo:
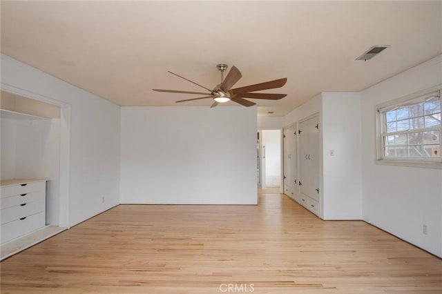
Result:
{"type": "MultiPolygon", "coordinates": [[[[385,110],[388,107],[394,107],[401,104],[404,104],[407,101],[413,101],[419,99],[422,96],[431,94],[432,92],[441,91],[442,94],[442,84],[434,86],[432,88],[427,88],[425,90],[421,90],[419,92],[414,92],[410,95],[406,95],[404,97],[400,97],[398,99],[394,99],[392,101],[387,101],[383,104],[378,104],[375,106],[375,122],[376,122],[376,159],[374,161],[375,164],[381,165],[389,165],[389,166],[410,166],[415,168],[437,168],[442,169],[442,157],[440,159],[432,159],[432,158],[410,158],[403,159],[401,157],[383,157],[383,124],[384,117],[381,113],[381,110],[385,110]],[[419,159],[419,160],[417,160],[419,159]]],[[[437,128],[441,130],[442,134],[442,126],[437,128]]]]}

